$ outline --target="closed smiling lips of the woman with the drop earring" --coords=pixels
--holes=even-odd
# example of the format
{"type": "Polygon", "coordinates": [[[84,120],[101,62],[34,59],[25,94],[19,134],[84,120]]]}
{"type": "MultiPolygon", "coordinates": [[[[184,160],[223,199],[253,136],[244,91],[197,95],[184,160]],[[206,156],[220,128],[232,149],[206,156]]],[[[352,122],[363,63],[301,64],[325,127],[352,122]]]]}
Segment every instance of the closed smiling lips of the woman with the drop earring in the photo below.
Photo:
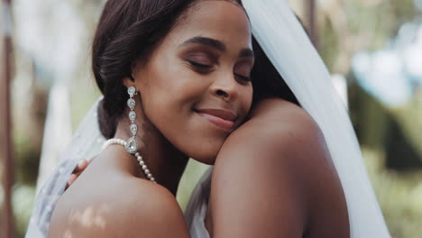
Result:
{"type": "Polygon", "coordinates": [[[230,111],[223,109],[197,109],[195,111],[212,124],[228,131],[232,131],[234,129],[234,121],[237,116],[230,111]]]}

